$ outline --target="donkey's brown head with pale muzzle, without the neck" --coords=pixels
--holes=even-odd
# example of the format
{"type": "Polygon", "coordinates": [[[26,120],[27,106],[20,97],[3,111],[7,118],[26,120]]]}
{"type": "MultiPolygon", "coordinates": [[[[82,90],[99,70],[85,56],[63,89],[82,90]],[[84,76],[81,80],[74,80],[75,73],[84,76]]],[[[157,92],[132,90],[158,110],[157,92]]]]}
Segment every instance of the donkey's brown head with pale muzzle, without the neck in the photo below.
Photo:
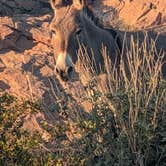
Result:
{"type": "Polygon", "coordinates": [[[79,42],[85,41],[86,32],[81,13],[92,0],[51,0],[54,18],[50,24],[56,60],[56,72],[67,80],[74,71],[79,42]]]}

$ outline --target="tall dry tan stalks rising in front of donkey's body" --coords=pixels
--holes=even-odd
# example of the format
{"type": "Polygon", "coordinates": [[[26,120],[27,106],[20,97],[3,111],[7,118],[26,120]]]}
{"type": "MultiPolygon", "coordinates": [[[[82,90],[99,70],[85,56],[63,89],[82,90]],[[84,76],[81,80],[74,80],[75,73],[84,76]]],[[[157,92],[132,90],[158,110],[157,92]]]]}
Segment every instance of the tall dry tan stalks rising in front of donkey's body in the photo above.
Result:
{"type": "MultiPolygon", "coordinates": [[[[105,103],[114,114],[119,134],[123,133],[127,137],[134,164],[148,165],[149,158],[152,157],[148,156],[151,155],[150,142],[156,135],[160,116],[165,114],[166,84],[161,73],[165,53],[157,52],[156,41],[149,39],[147,34],[142,43],[131,37],[129,45],[126,45],[126,40],[124,37],[119,74],[111,64],[106,48],[102,49],[106,71],[106,79],[103,81],[106,90],[103,90],[103,83],[98,82],[99,76],[95,73],[95,67],[90,65],[91,60],[85,56],[84,47],[79,55],[80,71],[83,82],[95,82],[92,88],[94,92],[89,93],[90,97],[94,98],[94,94],[99,93],[100,104],[105,103]]],[[[95,100],[94,105],[96,104],[99,103],[95,100]]],[[[157,151],[155,153],[159,155],[157,151]]]]}

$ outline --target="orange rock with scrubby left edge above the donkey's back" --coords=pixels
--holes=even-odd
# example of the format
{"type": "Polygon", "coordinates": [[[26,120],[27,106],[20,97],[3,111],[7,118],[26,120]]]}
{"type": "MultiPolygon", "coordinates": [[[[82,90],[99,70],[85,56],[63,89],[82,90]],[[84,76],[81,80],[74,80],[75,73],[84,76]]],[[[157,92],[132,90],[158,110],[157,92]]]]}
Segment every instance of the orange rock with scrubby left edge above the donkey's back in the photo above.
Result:
{"type": "Polygon", "coordinates": [[[102,11],[98,15],[102,15],[105,22],[110,23],[112,15],[112,21],[118,19],[123,29],[156,28],[166,23],[165,0],[103,0],[98,1],[95,8],[102,11]]]}

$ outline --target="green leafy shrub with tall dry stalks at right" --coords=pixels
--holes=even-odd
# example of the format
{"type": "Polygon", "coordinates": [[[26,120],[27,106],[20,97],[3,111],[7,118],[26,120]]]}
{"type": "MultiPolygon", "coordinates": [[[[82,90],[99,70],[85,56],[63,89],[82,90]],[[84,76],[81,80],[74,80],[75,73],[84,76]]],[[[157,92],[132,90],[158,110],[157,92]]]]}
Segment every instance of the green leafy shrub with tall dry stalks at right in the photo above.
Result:
{"type": "MultiPolygon", "coordinates": [[[[93,107],[88,118],[78,122],[83,132],[82,138],[76,140],[80,152],[72,155],[77,164],[165,163],[166,82],[161,76],[165,54],[158,54],[155,42],[146,35],[142,43],[131,38],[130,45],[124,47],[127,56],[121,61],[119,74],[112,64],[106,64],[106,92],[100,90],[88,60],[82,65],[93,107]]],[[[104,48],[103,54],[107,58],[104,48]]],[[[105,62],[109,63],[109,59],[105,62]]]]}

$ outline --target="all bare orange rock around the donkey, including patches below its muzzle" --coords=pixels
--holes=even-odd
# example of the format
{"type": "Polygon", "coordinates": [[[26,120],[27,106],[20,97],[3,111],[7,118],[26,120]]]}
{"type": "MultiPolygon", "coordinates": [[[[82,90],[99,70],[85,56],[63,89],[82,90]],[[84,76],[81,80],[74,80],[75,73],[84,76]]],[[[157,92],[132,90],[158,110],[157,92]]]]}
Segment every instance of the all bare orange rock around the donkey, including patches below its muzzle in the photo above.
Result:
{"type": "MultiPolygon", "coordinates": [[[[91,8],[106,26],[114,26],[117,20],[122,22],[123,29],[128,26],[133,29],[161,26],[164,29],[166,25],[166,0],[96,0],[91,8]]],[[[52,14],[48,0],[0,0],[0,93],[38,100],[47,107],[49,112],[45,116],[42,113],[28,115],[23,125],[28,131],[43,133],[46,141],[50,136],[40,127],[39,120],[47,118],[49,123],[55,124],[66,118],[58,119],[56,102],[63,102],[63,109],[67,104],[75,108],[73,115],[68,113],[70,119],[79,114],[78,111],[83,109],[88,113],[92,108],[80,80],[66,85],[54,76],[49,34],[52,14]]],[[[166,37],[163,35],[163,38],[158,45],[166,50],[166,37]]],[[[98,79],[100,89],[104,91],[105,75],[98,79]]],[[[70,128],[74,134],[67,134],[69,140],[73,136],[79,138],[79,135],[75,136],[78,129],[72,125],[70,128]]]]}

